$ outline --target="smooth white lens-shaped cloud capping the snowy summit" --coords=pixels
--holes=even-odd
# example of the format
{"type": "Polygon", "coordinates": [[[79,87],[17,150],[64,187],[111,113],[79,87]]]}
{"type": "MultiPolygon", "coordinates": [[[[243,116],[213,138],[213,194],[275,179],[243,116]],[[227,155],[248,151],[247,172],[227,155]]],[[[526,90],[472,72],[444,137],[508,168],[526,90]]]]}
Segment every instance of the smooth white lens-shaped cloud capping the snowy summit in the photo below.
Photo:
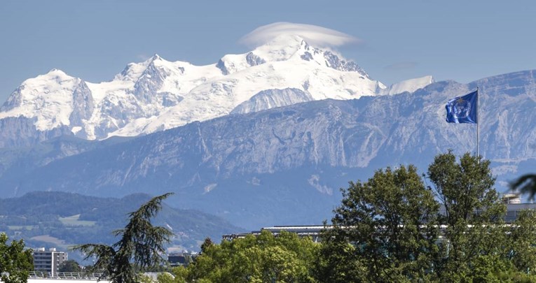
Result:
{"type": "Polygon", "coordinates": [[[308,43],[318,46],[340,46],[348,43],[362,42],[359,38],[343,34],[334,29],[318,27],[312,24],[275,22],[254,29],[254,31],[240,38],[240,43],[256,47],[263,45],[282,34],[301,36],[305,41],[308,41],[308,43]]]}

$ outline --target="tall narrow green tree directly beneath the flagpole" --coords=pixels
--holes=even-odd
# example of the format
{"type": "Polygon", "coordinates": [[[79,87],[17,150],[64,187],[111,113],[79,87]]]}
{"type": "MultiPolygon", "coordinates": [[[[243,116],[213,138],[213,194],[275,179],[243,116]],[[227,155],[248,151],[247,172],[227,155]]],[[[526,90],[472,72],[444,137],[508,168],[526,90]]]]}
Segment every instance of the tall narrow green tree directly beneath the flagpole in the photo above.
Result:
{"type": "MultiPolygon", "coordinates": [[[[446,228],[441,257],[435,266],[439,277],[446,280],[458,282],[467,277],[488,276],[484,274],[490,272],[484,268],[489,266],[488,262],[499,264],[498,259],[505,260],[502,255],[507,240],[506,206],[493,188],[495,177],[489,165],[490,161],[469,153],[458,162],[449,151],[437,155],[428,168],[428,177],[444,207],[440,223],[446,228]]],[[[506,268],[500,264],[495,267],[497,272],[506,268]]]]}

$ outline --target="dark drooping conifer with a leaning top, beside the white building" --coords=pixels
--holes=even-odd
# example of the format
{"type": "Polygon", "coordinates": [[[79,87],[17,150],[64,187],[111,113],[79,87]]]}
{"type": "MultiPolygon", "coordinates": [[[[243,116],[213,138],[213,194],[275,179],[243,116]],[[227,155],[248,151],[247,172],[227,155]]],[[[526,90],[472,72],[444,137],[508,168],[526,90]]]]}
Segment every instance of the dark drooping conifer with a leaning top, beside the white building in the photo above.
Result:
{"type": "Polygon", "coordinates": [[[112,282],[137,282],[137,270],[163,261],[161,254],[165,252],[164,244],[170,242],[172,232],[164,227],[153,226],[151,219],[162,209],[162,201],[171,194],[151,198],[138,210],[130,212],[125,228],[113,232],[121,236],[121,240],[114,245],[85,244],[74,249],[84,252],[85,259],[96,256],[93,269],[103,270],[103,277],[109,277],[112,282]]]}

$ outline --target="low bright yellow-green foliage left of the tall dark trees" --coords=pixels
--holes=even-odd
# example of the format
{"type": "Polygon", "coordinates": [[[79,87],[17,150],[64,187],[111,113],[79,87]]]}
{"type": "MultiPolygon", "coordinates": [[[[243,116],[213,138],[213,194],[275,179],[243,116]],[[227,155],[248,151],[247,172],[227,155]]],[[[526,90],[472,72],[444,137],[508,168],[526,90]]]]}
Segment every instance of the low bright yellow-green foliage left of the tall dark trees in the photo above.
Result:
{"type": "Polygon", "coordinates": [[[282,232],[207,245],[188,268],[174,269],[178,282],[315,282],[319,245],[282,232]]]}

